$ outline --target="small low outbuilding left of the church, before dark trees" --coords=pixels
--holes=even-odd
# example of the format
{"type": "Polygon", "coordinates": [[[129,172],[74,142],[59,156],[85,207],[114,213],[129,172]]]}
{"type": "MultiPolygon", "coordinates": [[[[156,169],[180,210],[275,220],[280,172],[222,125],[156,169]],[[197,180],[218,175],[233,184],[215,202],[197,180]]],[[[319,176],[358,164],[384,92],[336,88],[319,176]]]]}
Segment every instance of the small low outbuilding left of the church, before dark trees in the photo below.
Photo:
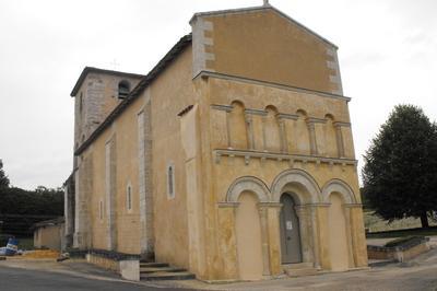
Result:
{"type": "Polygon", "coordinates": [[[64,219],[59,217],[40,221],[34,226],[34,246],[36,248],[50,248],[61,251],[64,245],[64,219]]]}

